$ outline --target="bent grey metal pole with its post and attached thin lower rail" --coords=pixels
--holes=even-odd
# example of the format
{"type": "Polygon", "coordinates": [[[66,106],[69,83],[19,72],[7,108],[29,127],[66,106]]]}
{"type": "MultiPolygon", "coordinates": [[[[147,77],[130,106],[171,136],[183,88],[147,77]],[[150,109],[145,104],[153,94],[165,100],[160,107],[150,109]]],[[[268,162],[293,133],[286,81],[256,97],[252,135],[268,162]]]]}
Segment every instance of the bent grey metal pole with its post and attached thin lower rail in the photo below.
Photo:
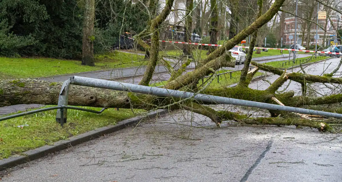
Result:
{"type": "Polygon", "coordinates": [[[63,126],[63,124],[67,121],[67,109],[83,110],[83,111],[88,111],[88,112],[93,112],[93,113],[101,113],[106,109],[106,108],[103,108],[101,109],[101,111],[95,111],[91,109],[68,106],[68,92],[69,92],[70,85],[79,85],[79,86],[86,86],[86,87],[133,92],[133,93],[150,94],[150,95],[156,95],[156,96],[162,96],[162,97],[171,96],[171,97],[180,98],[180,99],[192,97],[192,99],[196,101],[201,101],[207,104],[232,104],[232,105],[238,105],[238,106],[257,107],[257,108],[262,108],[262,109],[297,112],[297,113],[304,113],[304,114],[310,114],[310,115],[320,115],[320,116],[326,116],[326,117],[342,118],[342,114],[339,114],[339,113],[317,111],[317,110],[311,110],[311,109],[303,109],[303,108],[297,108],[297,107],[289,107],[289,106],[254,102],[254,101],[246,101],[246,100],[220,97],[220,96],[214,96],[214,95],[196,94],[192,92],[184,92],[184,91],[179,91],[179,90],[170,90],[170,89],[163,89],[163,88],[156,88],[156,87],[149,87],[149,86],[142,86],[142,85],[127,84],[127,83],[122,83],[122,82],[117,82],[117,81],[109,81],[109,80],[74,76],[63,82],[62,89],[58,97],[58,106],[18,113],[18,114],[11,115],[11,116],[6,116],[3,118],[0,118],[0,121],[11,119],[11,118],[16,118],[20,116],[25,116],[25,115],[29,115],[32,113],[57,109],[56,121],[60,122],[61,125],[63,126]]]}

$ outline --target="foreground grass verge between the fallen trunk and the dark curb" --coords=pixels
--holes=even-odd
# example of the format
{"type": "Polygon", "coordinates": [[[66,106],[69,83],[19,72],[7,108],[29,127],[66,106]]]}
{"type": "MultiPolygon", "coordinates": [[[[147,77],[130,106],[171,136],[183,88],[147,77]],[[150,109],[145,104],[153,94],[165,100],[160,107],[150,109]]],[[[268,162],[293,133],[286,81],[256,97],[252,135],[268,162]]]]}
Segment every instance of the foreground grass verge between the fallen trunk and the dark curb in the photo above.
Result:
{"type": "Polygon", "coordinates": [[[68,121],[63,127],[55,121],[56,110],[5,120],[0,122],[0,159],[44,145],[53,145],[58,140],[116,124],[133,116],[135,114],[131,109],[116,111],[114,108],[109,108],[101,114],[68,109],[68,121]],[[17,127],[25,124],[28,126],[17,127]]]}

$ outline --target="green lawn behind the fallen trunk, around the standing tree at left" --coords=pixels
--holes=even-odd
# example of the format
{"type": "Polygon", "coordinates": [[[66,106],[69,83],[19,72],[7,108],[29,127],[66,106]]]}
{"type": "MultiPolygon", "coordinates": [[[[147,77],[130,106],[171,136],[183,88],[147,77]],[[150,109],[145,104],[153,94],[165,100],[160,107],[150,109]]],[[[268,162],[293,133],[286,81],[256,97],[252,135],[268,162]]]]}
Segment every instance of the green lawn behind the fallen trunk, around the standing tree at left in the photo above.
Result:
{"type": "Polygon", "coordinates": [[[36,78],[117,67],[139,66],[144,62],[130,62],[142,60],[142,58],[139,55],[114,51],[102,55],[95,55],[95,66],[84,66],[81,65],[81,61],[77,60],[0,57],[0,79],[36,78]]]}

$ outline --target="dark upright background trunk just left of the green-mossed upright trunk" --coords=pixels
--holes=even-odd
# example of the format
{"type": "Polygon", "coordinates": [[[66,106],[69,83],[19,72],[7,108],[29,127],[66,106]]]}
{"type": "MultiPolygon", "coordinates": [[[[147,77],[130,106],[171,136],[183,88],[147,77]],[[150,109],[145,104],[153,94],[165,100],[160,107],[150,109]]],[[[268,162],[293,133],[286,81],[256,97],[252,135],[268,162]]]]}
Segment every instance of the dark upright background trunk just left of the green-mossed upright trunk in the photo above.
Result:
{"type": "MultiPolygon", "coordinates": [[[[191,29],[192,29],[192,15],[191,11],[194,8],[194,0],[186,0],[186,12],[185,12],[185,26],[184,26],[184,42],[191,42],[191,29]]],[[[183,55],[191,55],[191,45],[184,44],[183,55]]]]}

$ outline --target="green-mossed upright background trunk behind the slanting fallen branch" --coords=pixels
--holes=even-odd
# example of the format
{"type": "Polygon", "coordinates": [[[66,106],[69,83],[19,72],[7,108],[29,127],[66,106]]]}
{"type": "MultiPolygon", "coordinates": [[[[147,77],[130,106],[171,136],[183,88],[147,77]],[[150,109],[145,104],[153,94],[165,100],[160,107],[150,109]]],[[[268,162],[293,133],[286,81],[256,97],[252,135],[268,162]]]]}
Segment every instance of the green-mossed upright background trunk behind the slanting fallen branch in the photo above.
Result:
{"type": "MultiPolygon", "coordinates": [[[[217,10],[217,3],[216,0],[210,0],[210,28],[209,28],[209,36],[210,36],[210,44],[217,44],[217,32],[218,32],[218,20],[219,20],[219,13],[217,10]]],[[[208,55],[215,50],[214,48],[210,47],[208,51],[208,55]]]]}

